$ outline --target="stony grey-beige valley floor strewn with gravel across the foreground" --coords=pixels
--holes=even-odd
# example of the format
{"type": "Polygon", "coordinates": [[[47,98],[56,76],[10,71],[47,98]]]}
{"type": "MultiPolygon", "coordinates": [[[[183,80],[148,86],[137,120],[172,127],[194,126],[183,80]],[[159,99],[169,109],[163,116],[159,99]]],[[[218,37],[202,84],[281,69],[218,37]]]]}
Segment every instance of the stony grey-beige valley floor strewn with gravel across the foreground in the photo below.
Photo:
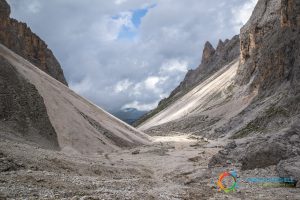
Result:
{"type": "Polygon", "coordinates": [[[164,136],[151,146],[87,157],[1,140],[0,199],[300,199],[298,188],[244,181],[276,177],[274,166],[209,169],[209,159],[221,148],[187,135],[164,136]],[[232,169],[240,178],[238,188],[219,192],[219,174],[232,169]]]}

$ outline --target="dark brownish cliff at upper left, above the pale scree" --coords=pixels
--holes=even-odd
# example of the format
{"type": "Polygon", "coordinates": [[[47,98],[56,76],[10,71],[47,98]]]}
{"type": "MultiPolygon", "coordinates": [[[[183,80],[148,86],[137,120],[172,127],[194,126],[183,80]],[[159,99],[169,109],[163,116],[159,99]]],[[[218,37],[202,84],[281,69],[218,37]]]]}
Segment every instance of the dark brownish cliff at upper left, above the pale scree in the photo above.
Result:
{"type": "Polygon", "coordinates": [[[67,85],[61,66],[47,44],[25,23],[11,19],[9,15],[9,5],[5,0],[0,0],[0,43],[67,85]]]}

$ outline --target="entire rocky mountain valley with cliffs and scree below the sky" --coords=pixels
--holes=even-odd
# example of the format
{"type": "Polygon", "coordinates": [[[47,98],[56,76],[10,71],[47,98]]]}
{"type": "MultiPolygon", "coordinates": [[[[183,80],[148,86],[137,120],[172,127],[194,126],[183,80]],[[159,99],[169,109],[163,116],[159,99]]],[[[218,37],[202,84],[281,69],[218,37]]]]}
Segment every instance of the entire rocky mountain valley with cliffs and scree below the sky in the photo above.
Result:
{"type": "Polygon", "coordinates": [[[71,90],[9,16],[0,0],[0,199],[300,199],[298,0],[258,0],[156,109],[115,113],[135,127],[71,90]]]}

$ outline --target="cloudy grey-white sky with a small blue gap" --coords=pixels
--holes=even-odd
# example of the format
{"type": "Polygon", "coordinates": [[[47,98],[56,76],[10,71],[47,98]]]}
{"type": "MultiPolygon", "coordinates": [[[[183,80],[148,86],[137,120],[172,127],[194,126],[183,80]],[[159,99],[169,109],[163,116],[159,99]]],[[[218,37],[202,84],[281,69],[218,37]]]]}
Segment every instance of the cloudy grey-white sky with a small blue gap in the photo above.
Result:
{"type": "Polygon", "coordinates": [[[257,0],[8,0],[60,61],[69,86],[115,112],[154,108],[231,38],[257,0]]]}

